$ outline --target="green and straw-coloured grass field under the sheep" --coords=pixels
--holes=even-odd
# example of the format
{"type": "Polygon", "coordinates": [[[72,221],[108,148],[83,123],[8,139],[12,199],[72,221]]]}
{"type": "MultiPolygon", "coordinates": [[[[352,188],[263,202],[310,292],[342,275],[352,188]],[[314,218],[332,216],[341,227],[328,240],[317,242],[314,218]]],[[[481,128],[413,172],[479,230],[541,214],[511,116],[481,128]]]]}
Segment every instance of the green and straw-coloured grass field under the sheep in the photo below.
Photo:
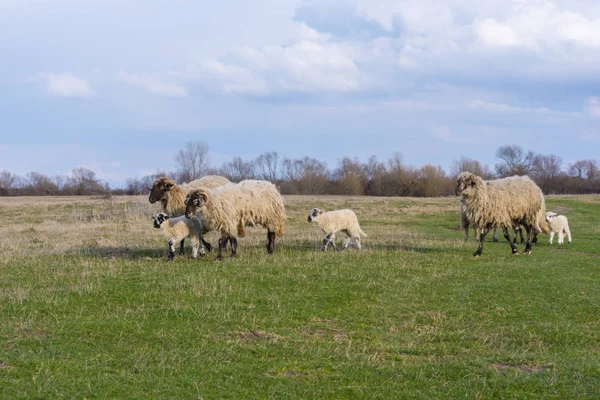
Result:
{"type": "Polygon", "coordinates": [[[547,198],[572,244],[478,259],[457,198],[286,201],[274,256],[167,263],[144,196],[0,198],[0,397],[600,398],[600,196],[547,198]]]}

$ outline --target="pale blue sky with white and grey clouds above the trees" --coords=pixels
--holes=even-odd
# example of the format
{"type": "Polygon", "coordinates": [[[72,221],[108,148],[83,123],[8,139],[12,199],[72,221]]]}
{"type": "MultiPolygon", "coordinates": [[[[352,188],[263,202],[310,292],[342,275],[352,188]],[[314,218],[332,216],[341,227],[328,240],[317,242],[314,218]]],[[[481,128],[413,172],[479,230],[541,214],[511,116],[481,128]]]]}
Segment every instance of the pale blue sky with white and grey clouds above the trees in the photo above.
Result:
{"type": "Polygon", "coordinates": [[[0,0],[0,170],[124,185],[204,141],[449,170],[600,158],[600,2],[0,0]]]}

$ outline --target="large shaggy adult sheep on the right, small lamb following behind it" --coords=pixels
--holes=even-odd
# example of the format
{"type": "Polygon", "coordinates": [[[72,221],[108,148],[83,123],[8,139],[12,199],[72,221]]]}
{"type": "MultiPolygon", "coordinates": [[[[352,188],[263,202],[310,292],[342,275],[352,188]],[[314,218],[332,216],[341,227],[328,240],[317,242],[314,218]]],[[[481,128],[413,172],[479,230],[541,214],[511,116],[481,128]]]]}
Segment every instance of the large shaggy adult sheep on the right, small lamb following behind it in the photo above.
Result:
{"type": "Polygon", "coordinates": [[[516,244],[510,240],[508,227],[525,227],[527,243],[524,254],[531,254],[534,230],[548,233],[546,221],[539,218],[546,211],[540,188],[528,176],[513,176],[502,181],[495,185],[486,184],[481,177],[470,172],[462,172],[458,176],[456,195],[464,198],[464,211],[469,222],[482,229],[479,247],[473,254],[475,257],[481,256],[485,235],[491,228],[502,228],[513,254],[518,254],[518,251],[516,244]]]}

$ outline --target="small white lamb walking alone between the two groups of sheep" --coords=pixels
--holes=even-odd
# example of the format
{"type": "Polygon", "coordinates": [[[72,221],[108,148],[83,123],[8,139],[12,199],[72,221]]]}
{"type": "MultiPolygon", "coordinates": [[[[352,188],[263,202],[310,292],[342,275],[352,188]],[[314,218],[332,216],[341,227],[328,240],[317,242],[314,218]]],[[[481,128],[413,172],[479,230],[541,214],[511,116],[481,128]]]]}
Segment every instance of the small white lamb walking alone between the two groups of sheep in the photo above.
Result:
{"type": "Polygon", "coordinates": [[[360,237],[367,237],[367,234],[358,225],[356,214],[349,209],[325,212],[318,208],[313,208],[308,213],[308,222],[316,222],[326,235],[323,239],[322,251],[326,251],[329,244],[331,244],[333,250],[338,250],[338,247],[335,245],[335,234],[339,231],[344,232],[348,236],[342,243],[342,250],[347,249],[350,244],[354,244],[360,250],[362,248],[360,237]],[[354,239],[354,242],[350,242],[350,239],[354,239]]]}

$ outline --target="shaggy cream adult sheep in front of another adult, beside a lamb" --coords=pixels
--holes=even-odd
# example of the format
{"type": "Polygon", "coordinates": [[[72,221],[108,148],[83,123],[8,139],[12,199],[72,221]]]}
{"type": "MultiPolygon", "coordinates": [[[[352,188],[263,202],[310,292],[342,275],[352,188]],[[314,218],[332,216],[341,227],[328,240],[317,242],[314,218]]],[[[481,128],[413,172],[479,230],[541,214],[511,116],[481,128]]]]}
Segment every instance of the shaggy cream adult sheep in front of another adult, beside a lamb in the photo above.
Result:
{"type": "Polygon", "coordinates": [[[283,236],[286,213],[277,187],[263,180],[244,180],[215,189],[194,189],[185,199],[185,216],[198,215],[206,228],[221,231],[219,253],[231,242],[231,256],[236,256],[237,237],[244,237],[246,226],[267,228],[267,254],[275,250],[275,236],[283,236]]]}

